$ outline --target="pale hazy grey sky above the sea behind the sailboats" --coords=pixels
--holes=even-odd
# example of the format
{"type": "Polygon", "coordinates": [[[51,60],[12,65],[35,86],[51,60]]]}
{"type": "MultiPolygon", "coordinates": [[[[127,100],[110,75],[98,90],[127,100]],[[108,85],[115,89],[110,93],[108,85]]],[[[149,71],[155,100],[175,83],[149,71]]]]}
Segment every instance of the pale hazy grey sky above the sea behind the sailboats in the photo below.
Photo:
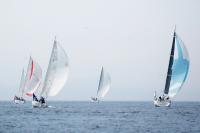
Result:
{"type": "Polygon", "coordinates": [[[172,34],[185,42],[190,71],[175,100],[200,100],[199,0],[6,0],[0,2],[0,100],[17,92],[29,55],[43,68],[54,36],[70,59],[65,88],[50,100],[89,100],[101,66],[105,100],[152,100],[164,88],[172,34]]]}

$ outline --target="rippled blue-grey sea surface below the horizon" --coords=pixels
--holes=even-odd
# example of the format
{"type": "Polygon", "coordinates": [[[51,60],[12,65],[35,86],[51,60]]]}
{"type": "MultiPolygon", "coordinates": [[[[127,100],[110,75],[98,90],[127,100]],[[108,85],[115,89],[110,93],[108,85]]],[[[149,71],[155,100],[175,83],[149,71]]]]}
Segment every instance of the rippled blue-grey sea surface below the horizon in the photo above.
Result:
{"type": "Polygon", "coordinates": [[[1,133],[200,133],[200,102],[0,102],[1,133]]]}

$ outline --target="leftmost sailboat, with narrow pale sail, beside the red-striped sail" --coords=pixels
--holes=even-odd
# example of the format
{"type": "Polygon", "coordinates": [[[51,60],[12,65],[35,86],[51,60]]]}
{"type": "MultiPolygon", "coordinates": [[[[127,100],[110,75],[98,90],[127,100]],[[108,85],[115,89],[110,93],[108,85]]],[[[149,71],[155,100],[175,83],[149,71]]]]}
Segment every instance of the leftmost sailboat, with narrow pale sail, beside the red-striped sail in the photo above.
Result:
{"type": "Polygon", "coordinates": [[[24,93],[24,81],[25,81],[25,75],[24,75],[24,69],[22,70],[21,80],[20,80],[20,86],[18,91],[18,96],[15,95],[14,97],[14,103],[25,103],[25,99],[23,98],[24,93]]]}

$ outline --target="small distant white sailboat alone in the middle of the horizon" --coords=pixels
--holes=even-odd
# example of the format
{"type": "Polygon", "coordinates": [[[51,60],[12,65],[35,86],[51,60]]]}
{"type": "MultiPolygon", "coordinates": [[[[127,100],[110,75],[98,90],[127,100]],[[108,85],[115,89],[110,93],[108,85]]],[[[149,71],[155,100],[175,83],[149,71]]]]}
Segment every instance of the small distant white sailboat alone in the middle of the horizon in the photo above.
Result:
{"type": "Polygon", "coordinates": [[[100,79],[99,79],[99,86],[98,86],[98,90],[97,90],[97,95],[96,95],[96,97],[91,97],[91,100],[93,102],[99,102],[100,99],[105,97],[110,89],[110,84],[111,84],[110,75],[102,67],[101,75],[100,75],[100,79]]]}

